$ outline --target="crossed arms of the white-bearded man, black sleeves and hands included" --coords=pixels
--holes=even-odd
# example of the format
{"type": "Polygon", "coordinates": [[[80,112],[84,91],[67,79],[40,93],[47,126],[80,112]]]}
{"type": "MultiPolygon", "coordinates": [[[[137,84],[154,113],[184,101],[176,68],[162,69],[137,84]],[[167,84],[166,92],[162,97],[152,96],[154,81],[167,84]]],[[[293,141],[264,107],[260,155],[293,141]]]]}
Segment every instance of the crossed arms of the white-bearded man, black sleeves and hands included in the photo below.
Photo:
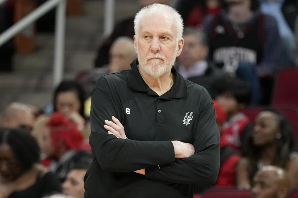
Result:
{"type": "Polygon", "coordinates": [[[196,128],[193,142],[187,144],[170,140],[125,139],[124,128],[119,123],[118,126],[115,123],[116,120],[105,124],[105,119],[110,118],[111,115],[117,115],[119,119],[122,118],[122,107],[116,105],[121,104],[120,98],[112,97],[110,93],[100,88],[95,89],[91,97],[89,143],[104,171],[131,172],[145,168],[147,179],[172,183],[202,183],[204,185],[215,183],[219,171],[220,138],[211,99],[202,103],[204,106],[200,108],[196,126],[193,126],[196,128]],[[107,126],[109,128],[106,128],[107,126]],[[116,130],[112,130],[112,128],[116,130]],[[110,134],[107,131],[110,131],[110,134]],[[194,154],[193,149],[195,150],[194,154]]]}

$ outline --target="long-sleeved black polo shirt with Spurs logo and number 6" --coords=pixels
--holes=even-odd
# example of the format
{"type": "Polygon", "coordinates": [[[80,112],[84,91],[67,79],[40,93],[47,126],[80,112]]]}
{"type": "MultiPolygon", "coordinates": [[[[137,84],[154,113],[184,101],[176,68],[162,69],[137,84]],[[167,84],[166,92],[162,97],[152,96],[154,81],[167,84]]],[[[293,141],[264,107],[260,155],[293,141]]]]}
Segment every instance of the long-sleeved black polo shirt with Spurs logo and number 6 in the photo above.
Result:
{"type": "Polygon", "coordinates": [[[142,79],[138,61],[101,77],[91,95],[90,145],[95,160],[85,175],[85,197],[192,197],[193,183],[212,185],[219,171],[219,131],[205,88],[177,72],[158,96],[142,79]],[[128,139],[103,127],[115,116],[128,139]],[[191,143],[195,154],[174,158],[171,140],[191,143]],[[159,165],[159,167],[157,166],[159,165]],[[146,175],[133,172],[145,168],[146,175]]]}

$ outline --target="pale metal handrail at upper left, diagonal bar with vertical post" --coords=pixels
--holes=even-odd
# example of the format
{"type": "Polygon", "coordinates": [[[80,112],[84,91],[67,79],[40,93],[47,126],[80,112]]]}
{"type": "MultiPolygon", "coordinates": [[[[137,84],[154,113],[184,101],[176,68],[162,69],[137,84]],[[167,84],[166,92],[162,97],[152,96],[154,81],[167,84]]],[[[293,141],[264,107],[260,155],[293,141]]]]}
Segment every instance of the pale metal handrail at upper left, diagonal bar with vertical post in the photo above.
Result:
{"type": "MultiPolygon", "coordinates": [[[[3,1],[3,0],[1,0],[3,1]]],[[[4,0],[5,1],[5,0],[4,0]]],[[[3,2],[4,2],[3,1],[3,2]]],[[[48,11],[57,6],[56,27],[55,27],[55,49],[53,65],[53,86],[59,84],[63,77],[64,67],[64,40],[65,40],[65,18],[66,18],[66,1],[65,0],[48,0],[38,6],[34,11],[29,13],[16,24],[0,34],[0,46],[15,36],[22,29],[32,24],[35,20],[45,15],[48,11]]]]}

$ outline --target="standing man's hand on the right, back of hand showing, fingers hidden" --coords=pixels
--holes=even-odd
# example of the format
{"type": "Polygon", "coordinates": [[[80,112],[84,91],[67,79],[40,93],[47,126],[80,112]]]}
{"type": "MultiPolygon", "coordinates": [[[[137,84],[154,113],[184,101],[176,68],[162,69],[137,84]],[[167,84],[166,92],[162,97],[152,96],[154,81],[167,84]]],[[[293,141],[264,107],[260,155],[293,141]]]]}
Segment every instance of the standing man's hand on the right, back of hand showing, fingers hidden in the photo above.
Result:
{"type": "Polygon", "coordinates": [[[189,157],[195,153],[195,148],[192,144],[180,141],[172,141],[172,143],[174,146],[175,158],[189,157]]]}

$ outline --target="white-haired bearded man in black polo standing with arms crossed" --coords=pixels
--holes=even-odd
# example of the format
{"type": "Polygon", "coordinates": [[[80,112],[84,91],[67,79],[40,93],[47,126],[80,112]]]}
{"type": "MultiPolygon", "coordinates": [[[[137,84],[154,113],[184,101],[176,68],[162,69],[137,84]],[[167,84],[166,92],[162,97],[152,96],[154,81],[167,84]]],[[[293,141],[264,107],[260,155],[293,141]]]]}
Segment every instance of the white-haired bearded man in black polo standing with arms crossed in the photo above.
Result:
{"type": "Polygon", "coordinates": [[[141,9],[134,29],[138,59],[100,78],[91,95],[95,160],[84,178],[85,198],[190,198],[194,183],[217,179],[214,105],[205,88],[172,67],[184,44],[172,7],[141,9]]]}

